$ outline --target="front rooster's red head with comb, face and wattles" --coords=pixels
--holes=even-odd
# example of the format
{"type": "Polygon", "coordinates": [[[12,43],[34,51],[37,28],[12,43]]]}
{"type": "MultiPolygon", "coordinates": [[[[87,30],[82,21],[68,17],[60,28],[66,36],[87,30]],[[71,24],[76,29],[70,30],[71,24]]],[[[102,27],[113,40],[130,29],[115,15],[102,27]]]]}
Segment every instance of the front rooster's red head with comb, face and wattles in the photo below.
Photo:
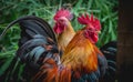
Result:
{"type": "Polygon", "coordinates": [[[99,32],[101,30],[101,23],[100,20],[93,17],[89,17],[89,14],[82,14],[81,17],[78,18],[78,21],[81,24],[85,24],[84,28],[84,35],[85,38],[90,39],[92,43],[96,43],[99,40],[99,32]]]}

